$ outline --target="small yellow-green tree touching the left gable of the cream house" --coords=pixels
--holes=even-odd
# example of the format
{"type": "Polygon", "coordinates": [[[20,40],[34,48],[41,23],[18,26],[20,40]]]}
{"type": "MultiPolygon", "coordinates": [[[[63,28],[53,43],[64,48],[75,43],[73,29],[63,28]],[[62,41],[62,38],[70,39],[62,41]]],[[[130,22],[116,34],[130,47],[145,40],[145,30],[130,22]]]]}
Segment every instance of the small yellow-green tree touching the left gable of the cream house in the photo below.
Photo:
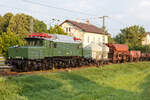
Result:
{"type": "Polygon", "coordinates": [[[65,31],[58,25],[55,25],[54,27],[50,26],[49,33],[67,35],[67,33],[65,33],[65,31]]]}

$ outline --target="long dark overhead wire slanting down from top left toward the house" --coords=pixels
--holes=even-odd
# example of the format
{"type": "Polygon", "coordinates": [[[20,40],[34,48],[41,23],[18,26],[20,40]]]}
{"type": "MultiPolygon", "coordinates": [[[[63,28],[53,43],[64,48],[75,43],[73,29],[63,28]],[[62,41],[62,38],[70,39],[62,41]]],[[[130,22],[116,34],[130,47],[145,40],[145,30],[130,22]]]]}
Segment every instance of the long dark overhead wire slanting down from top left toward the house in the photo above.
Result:
{"type": "Polygon", "coordinates": [[[75,10],[69,10],[69,9],[65,9],[65,8],[55,7],[55,6],[51,6],[51,5],[47,5],[47,4],[42,4],[42,3],[39,3],[39,2],[30,1],[30,0],[22,0],[22,1],[27,2],[27,3],[31,3],[31,4],[44,6],[44,7],[49,7],[49,8],[54,8],[54,9],[58,9],[58,10],[63,10],[63,11],[66,11],[66,12],[78,13],[78,14],[89,15],[89,16],[95,16],[93,14],[89,14],[89,13],[85,13],[85,12],[81,12],[81,11],[75,11],[75,10]]]}

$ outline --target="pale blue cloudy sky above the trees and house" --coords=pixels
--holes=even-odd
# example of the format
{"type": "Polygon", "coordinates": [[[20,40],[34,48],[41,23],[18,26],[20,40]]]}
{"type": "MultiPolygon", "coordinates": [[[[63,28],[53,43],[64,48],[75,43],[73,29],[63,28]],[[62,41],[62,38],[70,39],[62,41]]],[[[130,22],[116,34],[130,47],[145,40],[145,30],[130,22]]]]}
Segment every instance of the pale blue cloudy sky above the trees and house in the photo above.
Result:
{"type": "Polygon", "coordinates": [[[91,24],[102,27],[99,17],[108,16],[106,28],[112,36],[132,25],[143,26],[150,32],[149,9],[150,0],[0,0],[0,15],[25,13],[48,26],[69,19],[89,20],[91,24]]]}

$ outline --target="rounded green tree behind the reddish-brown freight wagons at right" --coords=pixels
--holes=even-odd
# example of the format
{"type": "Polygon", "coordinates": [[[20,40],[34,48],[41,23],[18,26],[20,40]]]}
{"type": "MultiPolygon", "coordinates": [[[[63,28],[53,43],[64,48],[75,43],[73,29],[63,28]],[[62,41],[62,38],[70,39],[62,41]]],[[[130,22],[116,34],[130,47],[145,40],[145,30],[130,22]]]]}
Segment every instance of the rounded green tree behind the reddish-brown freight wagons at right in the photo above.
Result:
{"type": "Polygon", "coordinates": [[[121,29],[121,33],[115,37],[115,41],[121,44],[128,44],[129,48],[135,48],[142,45],[142,39],[145,35],[145,29],[134,25],[121,29]]]}

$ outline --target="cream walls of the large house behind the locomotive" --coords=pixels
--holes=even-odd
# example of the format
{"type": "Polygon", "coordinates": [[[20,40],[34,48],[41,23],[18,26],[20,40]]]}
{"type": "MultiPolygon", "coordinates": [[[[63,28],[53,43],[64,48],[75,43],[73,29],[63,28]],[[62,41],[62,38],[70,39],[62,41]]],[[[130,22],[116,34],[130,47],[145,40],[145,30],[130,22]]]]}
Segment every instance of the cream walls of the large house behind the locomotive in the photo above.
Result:
{"type": "Polygon", "coordinates": [[[77,38],[80,38],[83,42],[83,47],[94,43],[108,43],[108,36],[103,34],[97,34],[97,33],[89,33],[89,32],[83,32],[78,27],[70,24],[70,23],[64,23],[61,26],[65,32],[68,33],[69,36],[75,36],[77,38]],[[69,30],[70,28],[70,30],[69,30]],[[69,30],[69,31],[68,31],[69,30]]]}

